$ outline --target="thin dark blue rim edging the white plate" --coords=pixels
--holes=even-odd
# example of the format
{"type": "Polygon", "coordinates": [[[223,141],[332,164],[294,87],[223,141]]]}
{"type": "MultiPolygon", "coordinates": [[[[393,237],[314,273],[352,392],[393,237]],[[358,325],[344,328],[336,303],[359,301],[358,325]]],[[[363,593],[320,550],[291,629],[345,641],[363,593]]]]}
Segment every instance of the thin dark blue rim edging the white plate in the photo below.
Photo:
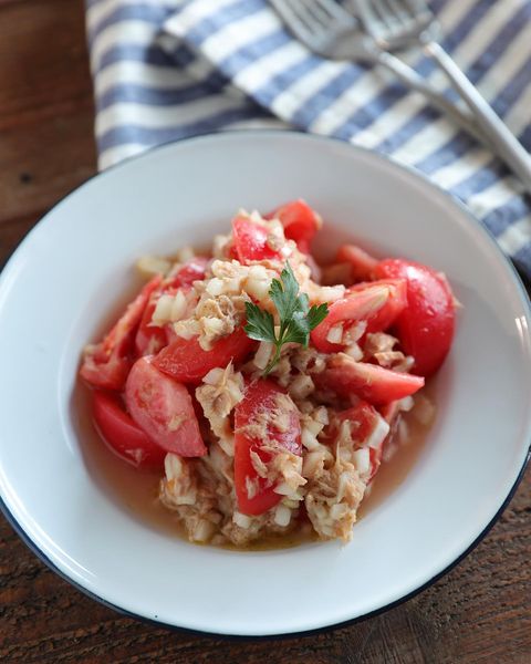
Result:
{"type": "MultiPolygon", "coordinates": [[[[19,247],[17,247],[17,249],[10,256],[9,260],[2,267],[1,273],[0,273],[0,288],[3,282],[2,273],[3,273],[4,269],[9,266],[9,263],[12,260],[15,259],[17,253],[19,252],[19,248],[23,243],[25,243],[27,239],[32,235],[33,230],[41,224],[41,221],[43,219],[45,219],[51,212],[53,212],[59,206],[61,206],[67,198],[75,195],[80,189],[85,187],[92,180],[97,179],[100,177],[104,177],[111,170],[114,172],[115,169],[123,168],[123,167],[127,166],[127,164],[129,162],[136,162],[137,159],[142,159],[143,157],[148,156],[155,152],[169,149],[170,147],[179,145],[181,143],[192,143],[192,142],[198,142],[198,141],[202,142],[202,141],[209,141],[211,138],[235,136],[235,135],[236,136],[238,136],[238,135],[251,135],[252,136],[252,135],[264,135],[264,134],[274,135],[274,136],[287,136],[287,135],[288,136],[298,136],[299,138],[302,138],[302,139],[322,141],[325,143],[348,145],[344,141],[341,141],[340,138],[334,138],[334,137],[330,137],[330,136],[319,136],[319,135],[314,135],[314,134],[306,134],[304,132],[299,132],[299,131],[294,131],[294,129],[266,129],[264,128],[264,129],[222,129],[222,131],[217,131],[217,132],[200,133],[200,134],[195,134],[192,136],[188,136],[186,138],[181,138],[178,141],[168,141],[167,143],[162,143],[160,145],[149,147],[139,155],[134,155],[134,156],[127,157],[127,158],[123,159],[122,162],[119,162],[119,164],[110,166],[102,173],[96,173],[95,175],[93,175],[92,177],[86,179],[82,185],[80,185],[75,189],[72,189],[71,191],[65,194],[62,198],[60,198],[60,200],[53,207],[50,208],[50,210],[35,224],[35,226],[33,226],[33,228],[30,230],[30,232],[22,239],[19,247]]],[[[435,189],[438,193],[441,193],[446,198],[451,200],[451,203],[454,205],[456,205],[468,219],[470,219],[470,221],[482,232],[482,235],[486,238],[488,238],[490,243],[496,248],[498,256],[502,259],[502,261],[509,268],[509,271],[511,272],[511,276],[513,278],[514,286],[517,287],[520,294],[522,295],[522,303],[524,304],[527,314],[528,314],[528,317],[531,318],[530,299],[529,299],[528,292],[523,286],[522,278],[520,277],[520,273],[517,270],[514,263],[503,253],[503,251],[501,250],[500,246],[498,245],[498,242],[496,241],[493,236],[485,228],[485,226],[479,221],[479,219],[477,219],[471,214],[471,211],[465,206],[465,204],[462,204],[458,198],[456,198],[455,196],[452,196],[451,194],[446,191],[442,187],[439,187],[438,185],[436,185],[435,183],[429,180],[421,172],[413,168],[412,166],[407,166],[405,164],[399,164],[398,162],[393,160],[391,157],[388,157],[382,153],[377,153],[375,151],[367,149],[367,148],[358,146],[358,145],[350,145],[350,147],[354,151],[357,151],[357,152],[361,152],[364,154],[369,154],[374,158],[381,159],[387,164],[391,163],[398,170],[404,170],[404,172],[415,176],[416,178],[420,179],[426,186],[428,186],[431,189],[435,189]]],[[[83,594],[87,595],[92,600],[95,600],[96,602],[100,602],[101,604],[103,604],[104,606],[107,606],[108,609],[113,609],[114,611],[124,615],[125,618],[133,618],[135,620],[139,620],[147,624],[156,625],[159,627],[164,626],[174,632],[185,632],[185,633],[189,633],[189,634],[196,634],[198,636],[216,636],[217,639],[221,637],[221,639],[228,640],[228,641],[252,641],[252,640],[257,640],[257,639],[274,641],[274,640],[282,640],[282,639],[312,636],[312,635],[320,634],[323,632],[329,632],[332,630],[336,630],[336,629],[341,629],[341,627],[345,627],[348,625],[361,623],[365,620],[368,620],[369,618],[375,618],[377,615],[381,615],[382,613],[385,613],[386,611],[391,611],[392,609],[399,606],[400,604],[413,599],[414,596],[416,596],[424,590],[427,590],[428,588],[430,588],[434,583],[439,581],[439,579],[441,579],[442,577],[448,574],[448,572],[450,572],[454,568],[456,568],[485,539],[485,537],[488,535],[488,532],[491,530],[491,528],[498,521],[498,519],[500,518],[500,516],[503,513],[504,509],[508,507],[509,502],[511,501],[512,497],[514,496],[514,494],[518,489],[518,486],[525,474],[525,468],[528,466],[528,463],[530,461],[530,458],[531,458],[531,438],[528,444],[528,452],[525,454],[525,458],[523,460],[522,467],[520,468],[520,471],[514,480],[514,484],[512,485],[511,489],[509,490],[507,497],[502,501],[498,511],[494,513],[494,516],[489,521],[489,523],[487,523],[487,526],[483,528],[483,530],[478,535],[478,537],[472,541],[472,543],[469,547],[467,547],[467,549],[460,556],[458,556],[450,564],[448,564],[445,569],[442,569],[440,572],[435,574],[431,579],[429,579],[428,581],[426,581],[425,583],[423,583],[421,585],[419,585],[412,592],[406,593],[402,598],[398,598],[397,600],[394,600],[393,602],[389,602],[388,604],[385,604],[384,606],[381,606],[379,609],[375,609],[374,611],[369,611],[368,613],[364,613],[363,615],[358,615],[356,618],[352,618],[352,619],[348,619],[348,620],[345,620],[342,622],[323,625],[321,627],[315,627],[312,630],[303,630],[300,632],[280,632],[278,634],[267,634],[267,635],[263,635],[263,634],[256,634],[256,635],[252,635],[252,634],[249,634],[249,635],[248,634],[246,634],[246,635],[227,634],[227,633],[219,633],[219,632],[209,632],[207,630],[194,630],[190,627],[180,627],[180,626],[174,625],[171,623],[166,623],[166,622],[159,621],[159,620],[157,620],[156,616],[155,616],[155,619],[150,619],[150,618],[146,618],[145,615],[140,615],[139,613],[134,613],[134,612],[127,611],[126,609],[123,609],[122,606],[118,606],[117,604],[113,604],[112,602],[108,602],[104,598],[90,591],[87,588],[81,585],[80,583],[74,581],[72,578],[70,578],[67,574],[65,574],[62,570],[60,570],[56,567],[56,564],[54,562],[52,562],[52,560],[50,560],[50,558],[48,558],[46,553],[44,553],[44,551],[42,551],[42,549],[40,549],[34,543],[34,541],[29,537],[29,535],[25,532],[25,530],[22,528],[22,526],[19,523],[19,521],[17,521],[17,519],[14,518],[14,516],[12,515],[12,512],[10,511],[10,509],[8,508],[8,506],[6,505],[6,502],[1,496],[0,496],[0,511],[3,512],[3,516],[6,517],[8,522],[11,525],[13,530],[17,532],[17,535],[25,543],[25,546],[46,567],[49,567],[60,578],[67,581],[75,589],[80,590],[83,594]]]]}

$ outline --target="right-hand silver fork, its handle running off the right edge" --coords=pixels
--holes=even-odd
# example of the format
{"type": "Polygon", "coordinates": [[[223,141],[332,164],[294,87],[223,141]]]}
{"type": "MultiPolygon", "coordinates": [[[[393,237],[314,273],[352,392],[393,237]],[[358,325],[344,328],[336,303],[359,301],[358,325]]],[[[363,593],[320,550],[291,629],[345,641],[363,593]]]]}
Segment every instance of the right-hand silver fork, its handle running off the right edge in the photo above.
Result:
{"type": "Polygon", "coordinates": [[[437,42],[439,28],[424,0],[354,0],[374,46],[384,52],[420,46],[467,103],[494,152],[531,191],[531,156],[437,42]]]}

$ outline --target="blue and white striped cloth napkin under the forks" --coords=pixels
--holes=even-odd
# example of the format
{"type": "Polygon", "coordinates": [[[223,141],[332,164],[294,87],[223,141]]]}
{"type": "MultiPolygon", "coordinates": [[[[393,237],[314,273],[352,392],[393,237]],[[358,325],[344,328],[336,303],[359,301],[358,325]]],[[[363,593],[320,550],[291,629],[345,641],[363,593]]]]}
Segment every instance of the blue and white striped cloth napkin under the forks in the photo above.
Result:
{"type": "MultiPolygon", "coordinates": [[[[385,153],[464,201],[531,277],[531,205],[489,151],[381,68],[313,55],[266,0],[85,0],[100,167],[222,128],[385,153]]],[[[444,46],[531,148],[531,0],[434,0],[444,46]]],[[[409,62],[436,84],[434,64],[409,62]]]]}

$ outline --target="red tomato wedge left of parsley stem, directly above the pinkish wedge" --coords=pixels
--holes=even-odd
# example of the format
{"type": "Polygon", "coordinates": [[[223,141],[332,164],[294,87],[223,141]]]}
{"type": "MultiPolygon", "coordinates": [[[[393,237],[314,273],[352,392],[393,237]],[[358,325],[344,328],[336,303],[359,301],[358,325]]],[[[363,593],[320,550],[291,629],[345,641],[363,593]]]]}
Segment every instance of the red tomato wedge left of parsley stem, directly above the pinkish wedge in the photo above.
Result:
{"type": "Polygon", "coordinates": [[[243,360],[254,345],[242,328],[217,341],[210,351],[201,349],[197,336],[179,336],[158,353],[153,364],[176,381],[197,384],[211,369],[243,360]]]}

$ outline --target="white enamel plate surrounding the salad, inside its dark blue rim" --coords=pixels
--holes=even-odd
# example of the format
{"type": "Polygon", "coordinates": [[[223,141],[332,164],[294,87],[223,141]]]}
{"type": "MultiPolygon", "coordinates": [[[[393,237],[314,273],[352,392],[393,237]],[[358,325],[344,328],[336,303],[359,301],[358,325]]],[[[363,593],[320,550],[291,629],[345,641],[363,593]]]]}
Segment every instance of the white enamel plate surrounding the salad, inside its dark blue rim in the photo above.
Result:
{"type": "Polygon", "coordinates": [[[165,146],[67,196],[1,276],[3,509],[59,573],[138,616],[239,635],[365,616],[438,578],[514,490],[531,433],[529,313],[479,224],[382,156],[284,132],[165,146]],[[354,238],[447,273],[464,309],[438,377],[438,417],[406,480],[350,544],[197,547],[149,528],[88,470],[72,397],[80,353],[131,292],[137,257],[208,243],[240,206],[268,210],[294,197],[329,220],[323,246],[354,238]]]}

